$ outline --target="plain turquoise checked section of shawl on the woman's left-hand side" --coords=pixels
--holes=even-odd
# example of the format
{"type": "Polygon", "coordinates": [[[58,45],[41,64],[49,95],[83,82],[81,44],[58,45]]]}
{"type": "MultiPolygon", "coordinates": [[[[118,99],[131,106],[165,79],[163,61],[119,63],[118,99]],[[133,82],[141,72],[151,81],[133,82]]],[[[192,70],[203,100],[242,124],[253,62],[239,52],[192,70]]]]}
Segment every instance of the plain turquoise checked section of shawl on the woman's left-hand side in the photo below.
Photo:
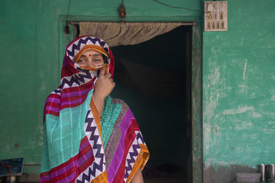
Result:
{"type": "Polygon", "coordinates": [[[42,164],[47,166],[41,167],[41,172],[49,171],[78,154],[80,141],[85,136],[84,123],[92,93],[93,90],[80,106],[61,110],[59,117],[46,115],[44,133],[47,133],[47,139],[44,139],[43,157],[49,157],[49,160],[43,158],[42,164]]]}

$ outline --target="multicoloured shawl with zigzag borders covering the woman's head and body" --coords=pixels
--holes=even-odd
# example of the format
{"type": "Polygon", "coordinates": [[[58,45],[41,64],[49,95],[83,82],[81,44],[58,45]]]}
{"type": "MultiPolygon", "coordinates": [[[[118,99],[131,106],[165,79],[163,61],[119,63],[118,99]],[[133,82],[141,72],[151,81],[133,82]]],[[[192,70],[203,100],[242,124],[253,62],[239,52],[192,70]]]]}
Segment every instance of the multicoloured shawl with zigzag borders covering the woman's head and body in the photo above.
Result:
{"type": "Polygon", "coordinates": [[[103,40],[83,36],[67,45],[61,85],[45,102],[41,182],[130,182],[148,160],[140,129],[124,101],[108,96],[100,121],[92,95],[102,66],[85,70],[74,62],[91,47],[107,53],[113,75],[113,55],[103,40]]]}

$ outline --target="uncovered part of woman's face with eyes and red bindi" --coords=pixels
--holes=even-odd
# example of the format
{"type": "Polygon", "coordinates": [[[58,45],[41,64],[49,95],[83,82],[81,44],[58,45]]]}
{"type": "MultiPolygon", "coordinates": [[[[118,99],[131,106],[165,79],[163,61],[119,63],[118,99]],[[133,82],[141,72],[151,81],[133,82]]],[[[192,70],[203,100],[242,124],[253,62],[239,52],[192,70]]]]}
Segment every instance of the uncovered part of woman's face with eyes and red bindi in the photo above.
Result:
{"type": "Polygon", "coordinates": [[[101,66],[104,64],[103,56],[100,52],[94,49],[84,51],[78,61],[79,66],[101,66]]]}

